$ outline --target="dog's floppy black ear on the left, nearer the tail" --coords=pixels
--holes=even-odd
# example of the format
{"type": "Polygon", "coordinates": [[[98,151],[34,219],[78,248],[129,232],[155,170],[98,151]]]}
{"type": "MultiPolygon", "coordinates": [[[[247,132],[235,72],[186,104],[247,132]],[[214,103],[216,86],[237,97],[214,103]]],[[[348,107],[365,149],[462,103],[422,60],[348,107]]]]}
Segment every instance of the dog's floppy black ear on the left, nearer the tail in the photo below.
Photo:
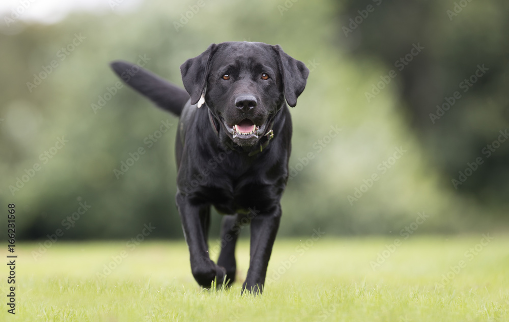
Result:
{"type": "Polygon", "coordinates": [[[210,59],[217,49],[216,44],[212,44],[199,56],[187,59],[180,66],[182,82],[184,87],[191,95],[191,104],[196,104],[202,97],[207,76],[209,75],[210,59]]]}

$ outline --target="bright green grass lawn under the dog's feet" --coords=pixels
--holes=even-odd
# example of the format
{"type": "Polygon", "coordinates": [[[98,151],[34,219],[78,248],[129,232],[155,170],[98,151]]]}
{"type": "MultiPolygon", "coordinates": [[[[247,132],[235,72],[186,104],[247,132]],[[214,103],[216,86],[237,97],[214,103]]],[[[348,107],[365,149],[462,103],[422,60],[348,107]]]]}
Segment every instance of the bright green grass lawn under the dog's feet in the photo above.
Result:
{"type": "MultiPolygon", "coordinates": [[[[393,238],[324,237],[304,251],[296,249],[304,238],[280,239],[268,271],[274,280],[257,297],[241,296],[239,283],[212,292],[198,287],[183,242],[146,241],[131,250],[124,242],[59,241],[37,261],[31,252],[38,245],[20,244],[16,315],[6,312],[4,295],[0,320],[509,321],[509,237],[495,236],[473,258],[465,257],[481,238],[412,236],[375,271],[370,261],[393,238]],[[122,263],[98,278],[123,250],[122,263]],[[295,263],[285,268],[281,262],[292,255],[295,263]],[[441,286],[442,274],[461,260],[466,266],[441,286]]],[[[248,253],[248,241],[241,240],[239,280],[248,253]]],[[[6,278],[0,285],[5,294],[6,278]]]]}

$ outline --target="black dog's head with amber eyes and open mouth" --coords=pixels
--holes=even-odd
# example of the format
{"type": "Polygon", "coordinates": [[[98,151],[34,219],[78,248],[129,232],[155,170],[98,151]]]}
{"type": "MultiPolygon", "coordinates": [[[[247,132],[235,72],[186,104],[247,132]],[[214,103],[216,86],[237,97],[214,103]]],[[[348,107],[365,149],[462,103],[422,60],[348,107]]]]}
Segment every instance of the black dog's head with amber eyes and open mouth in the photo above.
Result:
{"type": "Polygon", "coordinates": [[[205,103],[241,146],[265,135],[285,99],[295,107],[309,74],[303,62],[278,45],[254,42],[212,44],[180,70],[191,104],[205,103]]]}

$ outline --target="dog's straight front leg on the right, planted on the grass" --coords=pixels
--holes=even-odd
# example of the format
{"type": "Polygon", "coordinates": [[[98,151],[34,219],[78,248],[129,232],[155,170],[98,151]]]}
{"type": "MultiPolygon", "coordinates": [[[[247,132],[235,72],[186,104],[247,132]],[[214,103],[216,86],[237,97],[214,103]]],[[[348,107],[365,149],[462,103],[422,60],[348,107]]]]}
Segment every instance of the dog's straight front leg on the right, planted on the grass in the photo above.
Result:
{"type": "Polygon", "coordinates": [[[267,266],[269,265],[272,245],[276,239],[279,221],[281,219],[281,206],[269,213],[259,213],[251,219],[251,247],[249,270],[242,285],[242,291],[260,293],[263,291],[267,266]]]}

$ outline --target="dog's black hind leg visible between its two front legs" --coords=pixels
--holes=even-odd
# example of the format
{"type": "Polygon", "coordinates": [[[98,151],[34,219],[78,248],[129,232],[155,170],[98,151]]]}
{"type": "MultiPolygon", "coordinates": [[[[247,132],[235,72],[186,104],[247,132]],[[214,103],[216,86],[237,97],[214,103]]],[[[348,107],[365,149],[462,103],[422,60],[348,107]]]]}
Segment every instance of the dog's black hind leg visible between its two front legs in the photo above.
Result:
{"type": "Polygon", "coordinates": [[[235,281],[237,264],[235,262],[235,245],[240,234],[239,215],[224,215],[221,223],[221,252],[217,265],[226,270],[229,284],[235,281]]]}

